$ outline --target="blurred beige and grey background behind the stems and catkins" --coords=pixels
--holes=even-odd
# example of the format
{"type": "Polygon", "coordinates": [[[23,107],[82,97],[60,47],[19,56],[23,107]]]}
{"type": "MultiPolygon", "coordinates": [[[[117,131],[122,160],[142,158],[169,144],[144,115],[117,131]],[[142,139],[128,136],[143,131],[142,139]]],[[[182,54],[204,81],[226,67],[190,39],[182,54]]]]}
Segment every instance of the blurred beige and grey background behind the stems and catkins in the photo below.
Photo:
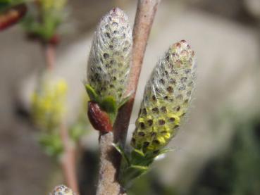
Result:
{"type": "MultiPolygon", "coordinates": [[[[68,1],[54,73],[68,82],[66,124],[82,109],[94,29],[111,8],[131,25],[137,1],[68,1]]],[[[162,0],[151,30],[128,138],[144,84],[169,45],[187,40],[197,54],[197,89],[173,151],[137,180],[129,194],[260,194],[260,1],[162,0]]],[[[58,164],[38,144],[30,96],[44,67],[39,44],[23,27],[0,32],[0,194],[47,194],[63,183],[58,164]]],[[[98,133],[80,137],[81,194],[94,194],[98,133]]]]}

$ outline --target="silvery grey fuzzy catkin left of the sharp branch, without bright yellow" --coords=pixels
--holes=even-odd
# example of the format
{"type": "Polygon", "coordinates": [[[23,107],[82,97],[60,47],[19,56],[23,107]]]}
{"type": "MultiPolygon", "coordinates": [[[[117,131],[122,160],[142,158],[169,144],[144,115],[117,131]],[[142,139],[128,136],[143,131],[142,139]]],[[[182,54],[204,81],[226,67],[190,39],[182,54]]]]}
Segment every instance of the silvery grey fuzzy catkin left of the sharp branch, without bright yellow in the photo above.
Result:
{"type": "Polygon", "coordinates": [[[132,32],[128,17],[114,8],[100,21],[89,54],[87,81],[102,98],[120,103],[128,82],[132,32]]]}

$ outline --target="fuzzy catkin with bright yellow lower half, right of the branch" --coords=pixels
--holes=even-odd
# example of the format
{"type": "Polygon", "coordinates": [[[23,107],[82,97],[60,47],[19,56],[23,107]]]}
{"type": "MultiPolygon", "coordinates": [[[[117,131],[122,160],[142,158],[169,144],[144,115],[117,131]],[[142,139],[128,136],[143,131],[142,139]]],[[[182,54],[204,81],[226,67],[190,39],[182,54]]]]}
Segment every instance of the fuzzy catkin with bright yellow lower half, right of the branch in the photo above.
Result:
{"type": "Polygon", "coordinates": [[[175,136],[191,101],[195,69],[194,51],[185,40],[159,60],[144,90],[131,141],[135,149],[158,151],[175,136]]]}

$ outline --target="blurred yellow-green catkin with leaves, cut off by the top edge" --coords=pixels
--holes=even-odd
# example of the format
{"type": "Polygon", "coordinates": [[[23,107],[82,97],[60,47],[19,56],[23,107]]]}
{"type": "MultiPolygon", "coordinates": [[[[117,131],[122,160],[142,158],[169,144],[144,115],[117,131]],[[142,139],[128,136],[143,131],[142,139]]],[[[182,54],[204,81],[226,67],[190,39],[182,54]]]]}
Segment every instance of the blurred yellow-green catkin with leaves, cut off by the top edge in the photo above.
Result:
{"type": "Polygon", "coordinates": [[[39,0],[28,6],[23,20],[28,34],[49,42],[65,17],[66,0],[39,0]]]}

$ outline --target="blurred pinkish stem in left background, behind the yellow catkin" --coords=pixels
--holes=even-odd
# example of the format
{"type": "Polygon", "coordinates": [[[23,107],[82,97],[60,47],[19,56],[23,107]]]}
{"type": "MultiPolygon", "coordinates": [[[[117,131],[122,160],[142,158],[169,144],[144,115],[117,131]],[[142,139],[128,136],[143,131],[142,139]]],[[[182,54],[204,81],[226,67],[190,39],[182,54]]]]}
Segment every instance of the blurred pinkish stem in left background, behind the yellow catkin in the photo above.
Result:
{"type": "MultiPolygon", "coordinates": [[[[47,70],[54,70],[56,48],[53,44],[47,44],[45,46],[45,57],[47,70]]],[[[75,193],[79,194],[78,180],[76,175],[76,161],[75,161],[75,147],[71,144],[68,130],[65,125],[60,127],[61,141],[63,142],[63,157],[61,159],[61,167],[63,175],[66,180],[66,184],[70,189],[73,189],[75,193]]]]}

